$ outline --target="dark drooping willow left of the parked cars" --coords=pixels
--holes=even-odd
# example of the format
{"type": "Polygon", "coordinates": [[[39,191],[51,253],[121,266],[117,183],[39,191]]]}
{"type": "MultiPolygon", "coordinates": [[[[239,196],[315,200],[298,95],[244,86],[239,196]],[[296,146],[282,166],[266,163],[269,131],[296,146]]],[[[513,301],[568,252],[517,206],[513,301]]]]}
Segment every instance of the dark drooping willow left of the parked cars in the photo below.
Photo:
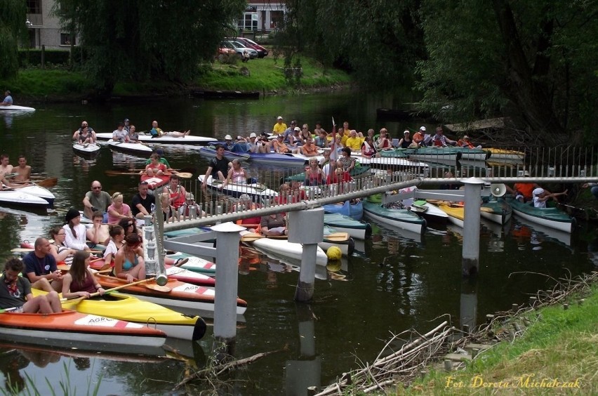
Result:
{"type": "Polygon", "coordinates": [[[187,82],[215,54],[244,0],[57,0],[74,6],[98,93],[120,79],[187,82]]]}

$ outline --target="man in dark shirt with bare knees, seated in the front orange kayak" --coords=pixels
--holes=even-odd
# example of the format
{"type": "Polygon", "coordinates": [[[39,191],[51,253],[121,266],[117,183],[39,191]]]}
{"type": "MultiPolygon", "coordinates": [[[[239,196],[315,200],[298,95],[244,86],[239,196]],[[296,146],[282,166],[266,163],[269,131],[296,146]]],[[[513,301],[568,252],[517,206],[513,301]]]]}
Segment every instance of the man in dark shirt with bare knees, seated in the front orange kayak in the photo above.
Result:
{"type": "Polygon", "coordinates": [[[6,260],[0,282],[0,308],[15,308],[12,312],[23,313],[62,312],[58,293],[51,291],[45,296],[34,297],[30,282],[20,276],[22,270],[23,263],[18,258],[11,257],[6,260]]]}

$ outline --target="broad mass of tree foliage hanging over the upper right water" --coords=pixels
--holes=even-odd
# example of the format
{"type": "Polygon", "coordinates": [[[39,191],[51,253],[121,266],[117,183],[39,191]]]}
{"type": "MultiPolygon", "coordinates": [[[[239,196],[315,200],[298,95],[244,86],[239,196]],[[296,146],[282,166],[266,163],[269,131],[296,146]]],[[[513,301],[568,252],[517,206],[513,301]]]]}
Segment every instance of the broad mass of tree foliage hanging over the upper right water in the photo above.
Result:
{"type": "Polygon", "coordinates": [[[505,115],[544,143],[550,143],[545,136],[560,137],[552,143],[596,139],[595,0],[291,0],[286,6],[280,38],[287,55],[298,48],[345,65],[370,88],[415,81],[423,110],[445,121],[505,115]]]}

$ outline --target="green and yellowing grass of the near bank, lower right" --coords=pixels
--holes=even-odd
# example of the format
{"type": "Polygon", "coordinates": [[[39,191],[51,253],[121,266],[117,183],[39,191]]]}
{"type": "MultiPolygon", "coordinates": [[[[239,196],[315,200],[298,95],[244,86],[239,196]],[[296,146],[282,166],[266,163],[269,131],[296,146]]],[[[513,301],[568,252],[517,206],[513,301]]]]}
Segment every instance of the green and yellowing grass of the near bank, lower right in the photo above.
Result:
{"type": "Polygon", "coordinates": [[[432,371],[406,390],[408,395],[598,394],[598,285],[562,305],[531,311],[521,338],[499,343],[463,371],[432,371]]]}

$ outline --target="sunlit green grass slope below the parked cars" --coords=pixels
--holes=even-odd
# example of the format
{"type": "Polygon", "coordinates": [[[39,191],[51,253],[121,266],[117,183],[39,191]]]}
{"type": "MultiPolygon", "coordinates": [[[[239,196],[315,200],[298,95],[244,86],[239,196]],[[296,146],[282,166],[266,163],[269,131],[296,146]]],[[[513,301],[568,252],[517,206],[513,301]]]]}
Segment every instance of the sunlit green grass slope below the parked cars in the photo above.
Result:
{"type": "Polygon", "coordinates": [[[349,84],[351,77],[340,70],[326,69],[311,58],[301,58],[303,76],[300,85],[294,87],[285,78],[284,60],[274,60],[271,55],[265,58],[255,58],[247,63],[237,62],[236,65],[214,62],[211,68],[197,79],[196,84],[204,88],[232,91],[289,91],[294,88],[312,88],[331,86],[334,84],[349,84]],[[250,75],[245,77],[240,73],[241,67],[247,67],[250,75]]]}

